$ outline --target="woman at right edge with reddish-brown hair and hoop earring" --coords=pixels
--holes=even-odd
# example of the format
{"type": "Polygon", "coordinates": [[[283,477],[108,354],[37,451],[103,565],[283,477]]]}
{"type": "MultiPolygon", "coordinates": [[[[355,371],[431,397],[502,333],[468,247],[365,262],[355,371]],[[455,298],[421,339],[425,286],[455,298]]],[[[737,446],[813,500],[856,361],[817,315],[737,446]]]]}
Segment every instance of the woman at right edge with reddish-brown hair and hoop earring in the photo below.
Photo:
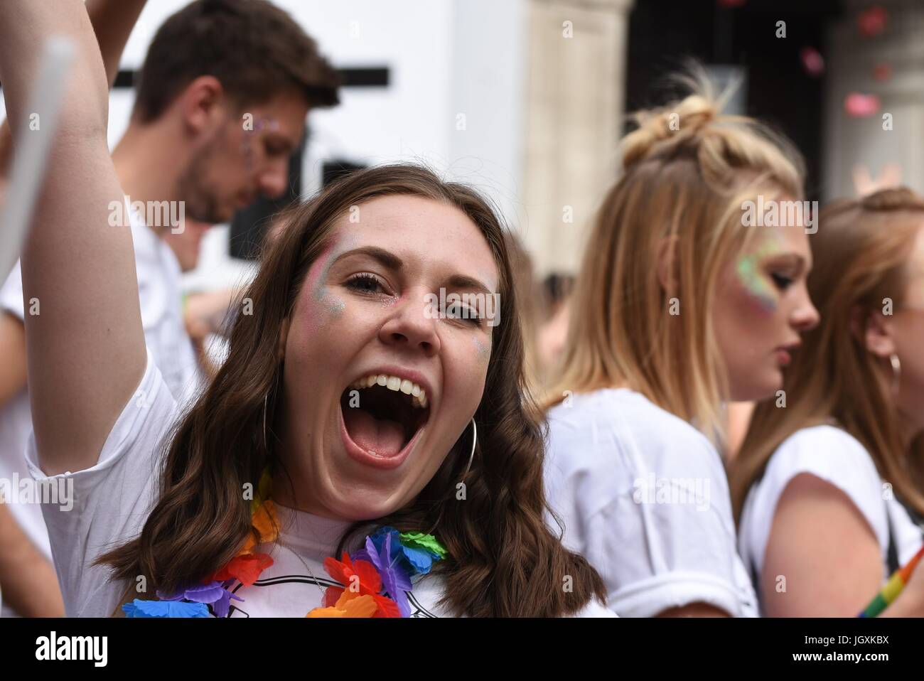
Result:
{"type": "MultiPolygon", "coordinates": [[[[821,324],[786,375],[786,408],[758,406],[730,469],[741,556],[771,616],[856,616],[922,542],[924,199],[883,189],[819,223],[821,324]]],[[[922,615],[918,567],[881,616],[922,615]]]]}

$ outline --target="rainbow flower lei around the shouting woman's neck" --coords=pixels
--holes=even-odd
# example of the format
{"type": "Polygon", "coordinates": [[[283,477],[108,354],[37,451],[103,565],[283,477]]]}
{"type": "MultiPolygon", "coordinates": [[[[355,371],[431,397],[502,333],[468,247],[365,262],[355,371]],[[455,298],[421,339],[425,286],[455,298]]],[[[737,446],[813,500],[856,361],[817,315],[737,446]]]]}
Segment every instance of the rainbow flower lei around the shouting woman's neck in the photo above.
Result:
{"type": "MultiPolygon", "coordinates": [[[[250,502],[250,523],[266,543],[276,541],[279,534],[270,488],[269,473],[264,471],[258,494],[250,502]]],[[[237,555],[200,584],[172,594],[158,590],[159,600],[136,599],[125,603],[122,611],[127,617],[208,617],[211,605],[215,616],[226,617],[232,600],[244,600],[232,592],[235,583],[252,586],[262,571],[273,565],[272,557],[254,551],[256,546],[251,533],[237,555]]],[[[444,546],[431,534],[379,528],[366,537],[359,551],[344,552],[340,560],[324,559],[324,570],[342,586],[328,587],[323,606],[305,616],[407,617],[411,578],[428,574],[446,554],[444,546]]]]}

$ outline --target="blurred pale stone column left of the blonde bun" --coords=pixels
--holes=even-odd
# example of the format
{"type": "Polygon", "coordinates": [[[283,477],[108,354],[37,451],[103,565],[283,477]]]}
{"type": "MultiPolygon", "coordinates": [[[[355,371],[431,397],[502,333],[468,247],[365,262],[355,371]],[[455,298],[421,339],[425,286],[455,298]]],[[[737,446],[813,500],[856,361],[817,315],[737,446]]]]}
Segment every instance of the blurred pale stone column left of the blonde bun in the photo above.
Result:
{"type": "Polygon", "coordinates": [[[593,213],[615,177],[632,4],[529,0],[520,234],[539,275],[577,272],[593,213]]]}

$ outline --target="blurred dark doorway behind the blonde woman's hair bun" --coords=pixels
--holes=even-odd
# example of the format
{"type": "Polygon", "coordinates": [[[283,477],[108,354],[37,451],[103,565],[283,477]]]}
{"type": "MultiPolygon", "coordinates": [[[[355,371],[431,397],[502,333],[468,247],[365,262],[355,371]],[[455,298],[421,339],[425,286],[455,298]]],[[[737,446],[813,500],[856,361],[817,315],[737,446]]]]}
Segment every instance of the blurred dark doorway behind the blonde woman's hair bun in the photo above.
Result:
{"type": "Polygon", "coordinates": [[[689,57],[741,67],[745,112],[796,143],[808,198],[818,199],[824,75],[809,75],[801,53],[826,55],[826,28],[842,11],[840,0],[638,0],[629,17],[626,110],[671,99],[664,80],[689,57]],[[777,21],[785,38],[776,37],[777,21]]]}

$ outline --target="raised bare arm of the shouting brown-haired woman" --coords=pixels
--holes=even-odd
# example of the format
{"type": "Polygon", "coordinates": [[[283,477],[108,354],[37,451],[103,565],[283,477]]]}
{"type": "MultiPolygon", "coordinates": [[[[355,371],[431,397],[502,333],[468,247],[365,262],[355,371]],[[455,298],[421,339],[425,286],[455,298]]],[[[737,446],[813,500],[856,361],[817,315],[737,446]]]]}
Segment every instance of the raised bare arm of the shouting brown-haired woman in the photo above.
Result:
{"type": "MultiPolygon", "coordinates": [[[[80,0],[0,3],[0,79],[14,138],[43,45],[76,46],[43,192],[22,256],[32,423],[46,473],[92,466],[145,365],[131,234],[110,226],[124,201],[106,147],[108,88],[80,0]]],[[[40,114],[41,110],[35,112],[40,114]]],[[[15,201],[16,197],[9,197],[15,201]]],[[[0,225],[0,229],[3,225],[0,225]]]]}

